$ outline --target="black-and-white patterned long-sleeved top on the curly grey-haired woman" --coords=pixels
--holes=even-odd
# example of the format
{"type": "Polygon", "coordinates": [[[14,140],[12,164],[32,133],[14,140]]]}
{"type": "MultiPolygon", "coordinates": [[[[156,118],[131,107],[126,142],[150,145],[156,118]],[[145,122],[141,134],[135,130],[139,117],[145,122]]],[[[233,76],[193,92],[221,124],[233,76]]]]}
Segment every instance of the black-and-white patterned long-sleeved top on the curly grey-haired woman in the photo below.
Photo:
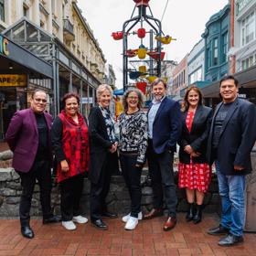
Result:
{"type": "Polygon", "coordinates": [[[121,152],[137,153],[137,163],[144,164],[147,147],[147,117],[144,112],[127,114],[118,118],[120,130],[119,149],[121,152]]]}

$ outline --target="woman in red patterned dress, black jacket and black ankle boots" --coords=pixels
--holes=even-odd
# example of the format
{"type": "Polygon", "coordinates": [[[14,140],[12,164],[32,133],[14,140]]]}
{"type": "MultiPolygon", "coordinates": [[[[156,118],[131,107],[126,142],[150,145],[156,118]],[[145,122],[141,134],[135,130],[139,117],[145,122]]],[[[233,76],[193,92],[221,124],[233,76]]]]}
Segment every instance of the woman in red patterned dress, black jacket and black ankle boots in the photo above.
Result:
{"type": "Polygon", "coordinates": [[[202,92],[191,86],[186,91],[182,112],[178,186],[186,188],[189,204],[186,219],[197,224],[202,219],[203,200],[211,178],[206,148],[212,109],[203,105],[202,92]]]}

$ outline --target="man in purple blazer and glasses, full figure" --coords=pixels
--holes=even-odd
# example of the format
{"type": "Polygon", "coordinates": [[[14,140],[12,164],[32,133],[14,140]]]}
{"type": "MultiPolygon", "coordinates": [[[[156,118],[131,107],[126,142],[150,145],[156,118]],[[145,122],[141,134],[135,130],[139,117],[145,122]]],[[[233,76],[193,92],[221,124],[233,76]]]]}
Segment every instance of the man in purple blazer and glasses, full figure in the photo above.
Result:
{"type": "Polygon", "coordinates": [[[15,113],[5,135],[5,140],[14,153],[13,167],[21,179],[19,218],[21,233],[28,239],[35,236],[29,225],[29,212],[36,180],[40,187],[43,224],[60,221],[57,216],[53,216],[50,206],[52,117],[45,112],[47,103],[45,91],[34,91],[31,95],[31,107],[15,113]]]}

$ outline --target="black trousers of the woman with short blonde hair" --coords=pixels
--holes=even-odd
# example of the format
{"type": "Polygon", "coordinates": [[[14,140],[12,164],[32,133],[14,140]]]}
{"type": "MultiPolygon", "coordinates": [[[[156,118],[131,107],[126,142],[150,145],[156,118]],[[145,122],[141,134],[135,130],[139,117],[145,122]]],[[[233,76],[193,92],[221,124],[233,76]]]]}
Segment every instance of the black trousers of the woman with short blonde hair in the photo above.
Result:
{"type": "Polygon", "coordinates": [[[107,211],[106,197],[110,191],[112,177],[112,156],[108,153],[101,169],[101,175],[98,182],[91,182],[90,206],[91,219],[101,219],[101,214],[107,211]]]}

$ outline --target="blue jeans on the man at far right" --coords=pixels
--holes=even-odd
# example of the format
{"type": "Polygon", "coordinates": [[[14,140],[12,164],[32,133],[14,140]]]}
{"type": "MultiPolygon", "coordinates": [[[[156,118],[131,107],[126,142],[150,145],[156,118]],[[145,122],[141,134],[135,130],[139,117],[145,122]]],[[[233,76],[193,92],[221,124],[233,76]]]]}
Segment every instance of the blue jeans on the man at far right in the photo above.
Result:
{"type": "Polygon", "coordinates": [[[218,161],[215,165],[222,206],[221,226],[229,229],[229,233],[241,236],[245,219],[245,176],[225,176],[219,170],[218,161]]]}

